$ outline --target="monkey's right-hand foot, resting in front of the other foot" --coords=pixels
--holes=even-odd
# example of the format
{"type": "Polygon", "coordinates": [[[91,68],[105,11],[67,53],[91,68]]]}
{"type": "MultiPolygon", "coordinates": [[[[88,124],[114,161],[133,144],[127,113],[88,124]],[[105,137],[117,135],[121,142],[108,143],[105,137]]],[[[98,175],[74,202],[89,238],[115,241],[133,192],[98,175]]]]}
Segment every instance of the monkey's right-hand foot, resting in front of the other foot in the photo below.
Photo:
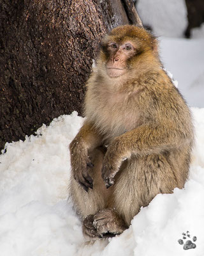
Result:
{"type": "Polygon", "coordinates": [[[119,214],[111,208],[97,212],[93,218],[93,225],[100,237],[113,237],[128,228],[119,214]]]}

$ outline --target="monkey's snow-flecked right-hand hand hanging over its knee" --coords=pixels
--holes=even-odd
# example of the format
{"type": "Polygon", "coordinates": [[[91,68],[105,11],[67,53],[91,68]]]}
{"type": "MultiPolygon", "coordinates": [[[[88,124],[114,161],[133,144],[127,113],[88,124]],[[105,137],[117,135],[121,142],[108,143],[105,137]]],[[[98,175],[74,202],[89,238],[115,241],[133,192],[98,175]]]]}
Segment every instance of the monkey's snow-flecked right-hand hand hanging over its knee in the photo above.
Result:
{"type": "Polygon", "coordinates": [[[106,188],[113,186],[114,177],[119,171],[122,162],[129,157],[121,146],[119,140],[114,140],[108,146],[105,154],[101,175],[105,181],[106,188]]]}

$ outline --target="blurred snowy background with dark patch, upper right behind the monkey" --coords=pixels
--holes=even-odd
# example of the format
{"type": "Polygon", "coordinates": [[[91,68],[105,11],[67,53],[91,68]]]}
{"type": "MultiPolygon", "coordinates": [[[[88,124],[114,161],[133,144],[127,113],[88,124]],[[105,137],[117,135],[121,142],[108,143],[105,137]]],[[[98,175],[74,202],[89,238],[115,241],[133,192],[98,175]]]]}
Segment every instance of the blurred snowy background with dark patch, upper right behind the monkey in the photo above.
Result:
{"type": "Polygon", "coordinates": [[[160,41],[164,67],[189,106],[204,108],[204,1],[137,0],[143,24],[160,41]]]}

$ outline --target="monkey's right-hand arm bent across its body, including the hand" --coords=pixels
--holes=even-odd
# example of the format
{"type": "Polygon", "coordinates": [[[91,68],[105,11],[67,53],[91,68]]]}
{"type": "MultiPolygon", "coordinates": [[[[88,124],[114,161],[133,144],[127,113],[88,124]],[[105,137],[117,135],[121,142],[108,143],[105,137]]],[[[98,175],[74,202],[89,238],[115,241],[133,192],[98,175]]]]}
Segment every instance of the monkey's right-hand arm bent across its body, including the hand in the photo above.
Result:
{"type": "Polygon", "coordinates": [[[173,121],[166,121],[164,124],[142,125],[113,140],[106,152],[102,168],[106,188],[113,185],[115,174],[119,171],[122,161],[131,155],[160,154],[165,150],[189,143],[191,138],[187,138],[185,129],[179,129],[173,121]]]}

